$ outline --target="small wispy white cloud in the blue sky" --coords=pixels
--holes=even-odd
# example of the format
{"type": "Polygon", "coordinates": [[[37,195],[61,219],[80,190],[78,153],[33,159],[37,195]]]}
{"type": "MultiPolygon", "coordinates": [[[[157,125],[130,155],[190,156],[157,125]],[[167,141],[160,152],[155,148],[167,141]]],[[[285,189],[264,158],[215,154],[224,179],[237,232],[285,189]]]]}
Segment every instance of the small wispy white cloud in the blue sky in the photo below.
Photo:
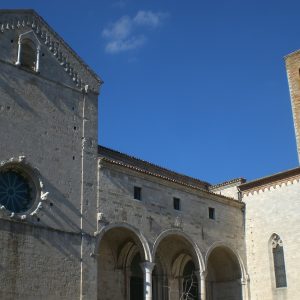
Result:
{"type": "Polygon", "coordinates": [[[105,51],[116,54],[142,47],[147,37],[139,31],[162,25],[167,16],[166,13],[140,10],[133,18],[121,17],[102,30],[102,37],[107,40],[105,51]]]}

